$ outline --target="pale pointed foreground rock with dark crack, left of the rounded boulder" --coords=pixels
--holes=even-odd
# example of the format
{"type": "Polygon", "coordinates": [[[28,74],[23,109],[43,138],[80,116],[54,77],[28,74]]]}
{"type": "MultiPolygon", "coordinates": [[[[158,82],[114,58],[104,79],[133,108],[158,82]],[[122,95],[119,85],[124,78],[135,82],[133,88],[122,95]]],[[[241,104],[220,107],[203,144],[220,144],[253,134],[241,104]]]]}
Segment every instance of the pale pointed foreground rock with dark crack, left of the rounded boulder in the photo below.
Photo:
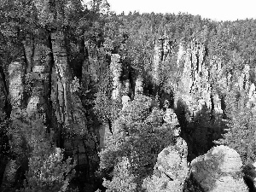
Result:
{"type": "Polygon", "coordinates": [[[187,155],[187,143],[178,137],[176,145],[164,148],[158,154],[154,174],[144,179],[143,188],[148,192],[183,191],[183,184],[189,174],[187,155]]]}

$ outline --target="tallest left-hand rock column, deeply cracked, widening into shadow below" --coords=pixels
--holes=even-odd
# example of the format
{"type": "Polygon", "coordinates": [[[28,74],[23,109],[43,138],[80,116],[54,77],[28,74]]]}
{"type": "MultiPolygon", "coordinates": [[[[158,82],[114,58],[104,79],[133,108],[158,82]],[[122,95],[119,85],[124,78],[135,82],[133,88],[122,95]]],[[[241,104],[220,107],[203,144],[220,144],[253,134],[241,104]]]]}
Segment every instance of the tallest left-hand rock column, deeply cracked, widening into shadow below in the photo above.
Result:
{"type": "MultiPolygon", "coordinates": [[[[52,52],[54,56],[54,67],[52,70],[52,92],[51,101],[57,121],[57,131],[62,138],[63,132],[75,133],[77,137],[67,137],[60,144],[67,150],[67,154],[77,154],[79,166],[88,164],[86,159],[83,137],[87,136],[87,125],[82,102],[77,94],[79,90],[79,79],[71,78],[71,69],[67,63],[67,50],[64,44],[63,32],[51,33],[52,52]],[[78,149],[79,148],[79,149],[78,149]]],[[[87,142],[87,145],[94,143],[87,142]]]]}

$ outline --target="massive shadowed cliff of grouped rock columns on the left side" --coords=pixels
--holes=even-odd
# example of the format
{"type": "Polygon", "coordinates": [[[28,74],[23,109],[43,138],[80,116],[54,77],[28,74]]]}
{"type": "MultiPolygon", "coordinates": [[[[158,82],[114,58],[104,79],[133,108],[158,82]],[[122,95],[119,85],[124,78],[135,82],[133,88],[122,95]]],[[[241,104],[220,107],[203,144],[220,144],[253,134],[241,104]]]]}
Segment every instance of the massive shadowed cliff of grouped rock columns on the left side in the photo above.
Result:
{"type": "MultiPolygon", "coordinates": [[[[40,9],[38,5],[38,12],[40,9]]],[[[47,16],[50,14],[49,7],[47,9],[40,13],[47,16]]],[[[46,21],[41,20],[42,24],[46,21]]],[[[72,156],[77,161],[76,169],[78,172],[83,172],[83,177],[80,179],[83,180],[81,183],[84,185],[90,181],[90,177],[94,176],[98,165],[98,138],[94,132],[88,131],[86,111],[79,92],[79,80],[74,77],[73,69],[69,65],[64,32],[60,29],[49,31],[42,29],[41,31],[40,37],[26,36],[22,42],[24,53],[9,63],[8,73],[4,75],[1,67],[1,123],[6,117],[7,98],[9,97],[9,104],[12,108],[9,126],[14,131],[10,135],[10,143],[14,143],[11,148],[17,152],[20,150],[19,145],[22,144],[20,139],[24,139],[21,132],[26,130],[27,134],[32,133],[30,126],[34,126],[33,122],[36,122],[38,118],[42,119],[47,132],[55,134],[56,147],[65,148],[65,155],[72,156]],[[22,137],[15,134],[15,131],[20,132],[22,137]]],[[[26,133],[23,134],[26,135],[26,133]]],[[[15,167],[20,167],[19,170],[14,170],[13,180],[7,179],[6,174],[3,175],[3,186],[11,186],[12,183],[17,182],[23,183],[22,179],[17,180],[17,177],[22,174],[24,176],[24,172],[27,171],[28,156],[26,154],[32,150],[32,146],[29,146],[30,141],[27,142],[23,143],[28,147],[24,156],[13,160],[15,167]]],[[[3,169],[5,164],[7,173],[11,163],[4,161],[3,169]]],[[[0,178],[2,183],[2,175],[0,178]]]]}

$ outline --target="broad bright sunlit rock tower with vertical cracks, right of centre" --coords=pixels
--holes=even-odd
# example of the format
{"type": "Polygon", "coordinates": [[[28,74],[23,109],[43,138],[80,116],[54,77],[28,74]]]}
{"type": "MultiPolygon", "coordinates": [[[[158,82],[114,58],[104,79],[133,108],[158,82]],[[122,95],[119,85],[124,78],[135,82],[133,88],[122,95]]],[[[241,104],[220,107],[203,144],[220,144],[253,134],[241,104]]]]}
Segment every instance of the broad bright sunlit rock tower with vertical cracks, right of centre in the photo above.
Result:
{"type": "Polygon", "coordinates": [[[186,51],[181,45],[181,53],[178,56],[178,63],[183,60],[183,76],[178,84],[175,97],[177,101],[183,100],[187,105],[189,115],[193,118],[202,107],[209,110],[212,108],[211,85],[209,83],[209,70],[205,64],[206,49],[204,44],[192,42],[186,51]]]}

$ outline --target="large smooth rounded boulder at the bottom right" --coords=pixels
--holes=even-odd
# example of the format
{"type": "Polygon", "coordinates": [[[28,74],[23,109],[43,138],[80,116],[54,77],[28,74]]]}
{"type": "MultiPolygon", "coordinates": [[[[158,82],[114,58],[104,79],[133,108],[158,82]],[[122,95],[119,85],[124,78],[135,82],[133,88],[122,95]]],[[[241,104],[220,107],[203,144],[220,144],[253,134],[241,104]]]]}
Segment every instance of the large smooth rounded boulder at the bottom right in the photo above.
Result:
{"type": "Polygon", "coordinates": [[[220,145],[192,160],[191,174],[205,191],[248,191],[236,150],[220,145]]]}

